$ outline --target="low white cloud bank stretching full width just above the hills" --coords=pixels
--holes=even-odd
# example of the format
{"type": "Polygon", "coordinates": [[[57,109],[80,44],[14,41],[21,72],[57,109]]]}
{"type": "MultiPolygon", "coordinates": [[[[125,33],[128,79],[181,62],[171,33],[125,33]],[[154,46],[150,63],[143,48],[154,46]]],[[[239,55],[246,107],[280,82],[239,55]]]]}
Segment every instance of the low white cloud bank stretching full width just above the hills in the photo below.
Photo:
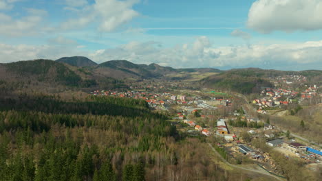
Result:
{"type": "Polygon", "coordinates": [[[216,67],[219,69],[259,67],[262,69],[322,69],[322,40],[274,45],[213,47],[206,36],[191,43],[163,47],[155,41],[130,42],[110,49],[85,51],[67,38],[43,46],[0,44],[0,62],[63,56],[87,56],[95,62],[129,60],[137,64],[158,63],[175,68],[216,67]],[[62,44],[59,44],[62,43],[62,44]]]}

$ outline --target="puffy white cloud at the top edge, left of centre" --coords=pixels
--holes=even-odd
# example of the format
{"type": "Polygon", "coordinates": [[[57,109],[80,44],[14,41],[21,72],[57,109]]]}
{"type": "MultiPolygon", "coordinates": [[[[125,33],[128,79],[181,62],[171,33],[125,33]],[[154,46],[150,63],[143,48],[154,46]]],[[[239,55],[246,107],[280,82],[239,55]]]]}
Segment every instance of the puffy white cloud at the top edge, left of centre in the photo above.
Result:
{"type": "Polygon", "coordinates": [[[112,32],[138,16],[138,12],[132,8],[138,2],[138,0],[96,0],[93,5],[85,5],[78,18],[69,19],[62,23],[61,27],[75,29],[85,27],[89,23],[98,23],[101,32],[112,32]]]}

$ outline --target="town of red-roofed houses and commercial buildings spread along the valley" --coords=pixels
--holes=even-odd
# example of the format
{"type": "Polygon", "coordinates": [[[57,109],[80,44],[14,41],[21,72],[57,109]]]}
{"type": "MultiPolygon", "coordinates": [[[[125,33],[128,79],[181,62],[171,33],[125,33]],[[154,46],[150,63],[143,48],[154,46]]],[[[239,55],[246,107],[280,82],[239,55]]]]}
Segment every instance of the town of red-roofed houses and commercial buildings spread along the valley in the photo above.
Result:
{"type": "MultiPolygon", "coordinates": [[[[91,94],[144,99],[149,108],[171,114],[171,122],[180,132],[215,139],[214,147],[222,150],[223,156],[235,164],[255,162],[266,171],[281,175],[277,162],[266,147],[281,152],[288,159],[301,159],[307,165],[322,162],[321,145],[290,136],[290,132],[283,132],[269,121],[247,114],[249,110],[246,111],[239,97],[234,95],[215,90],[184,90],[181,93],[168,90],[158,93],[135,88],[128,91],[96,90],[91,94]],[[258,147],[259,141],[265,141],[264,147],[258,147]]],[[[299,105],[305,99],[321,97],[321,93],[319,86],[314,85],[303,92],[264,88],[259,96],[251,101],[251,105],[258,114],[268,114],[272,108],[282,110],[281,106],[299,105]]]]}

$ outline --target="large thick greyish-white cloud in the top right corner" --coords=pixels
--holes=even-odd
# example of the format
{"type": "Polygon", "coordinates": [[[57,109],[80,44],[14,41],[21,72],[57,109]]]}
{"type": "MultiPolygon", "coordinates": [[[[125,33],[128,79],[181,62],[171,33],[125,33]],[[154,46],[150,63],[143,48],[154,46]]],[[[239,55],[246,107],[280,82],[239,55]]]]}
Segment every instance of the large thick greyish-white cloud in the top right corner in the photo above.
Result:
{"type": "Polygon", "coordinates": [[[257,0],[248,12],[247,25],[261,33],[322,29],[322,1],[257,0]]]}

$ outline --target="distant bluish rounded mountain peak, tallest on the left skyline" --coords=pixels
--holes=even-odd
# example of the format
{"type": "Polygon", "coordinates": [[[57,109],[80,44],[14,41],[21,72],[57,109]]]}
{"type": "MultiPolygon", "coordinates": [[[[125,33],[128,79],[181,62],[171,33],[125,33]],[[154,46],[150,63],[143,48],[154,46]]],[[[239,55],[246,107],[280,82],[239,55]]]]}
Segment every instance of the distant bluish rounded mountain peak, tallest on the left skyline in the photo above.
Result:
{"type": "Polygon", "coordinates": [[[63,62],[75,67],[92,67],[97,65],[96,62],[83,56],[63,57],[56,60],[56,62],[63,62]]]}

